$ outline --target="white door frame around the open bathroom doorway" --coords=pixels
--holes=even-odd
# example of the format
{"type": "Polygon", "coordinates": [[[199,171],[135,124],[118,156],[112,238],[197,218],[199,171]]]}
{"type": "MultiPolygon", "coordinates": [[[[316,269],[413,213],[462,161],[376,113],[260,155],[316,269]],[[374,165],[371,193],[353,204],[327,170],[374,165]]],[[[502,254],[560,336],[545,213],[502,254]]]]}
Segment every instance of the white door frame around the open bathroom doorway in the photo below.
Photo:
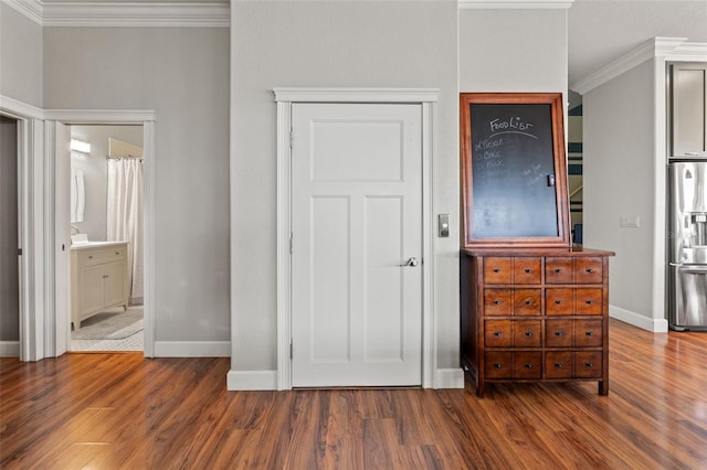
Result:
{"type": "MultiPolygon", "coordinates": [[[[53,162],[61,161],[57,158],[57,149],[54,146],[55,130],[57,124],[63,125],[141,125],[143,126],[143,156],[144,156],[144,181],[143,181],[143,226],[144,234],[144,279],[145,279],[145,300],[144,300],[144,317],[145,317],[145,357],[155,356],[155,168],[156,168],[156,152],[155,152],[155,122],[157,120],[157,114],[154,110],[116,110],[116,109],[49,109],[44,111],[45,125],[46,125],[46,153],[50,158],[52,167],[53,162]]],[[[55,186],[54,181],[57,175],[56,168],[48,169],[51,175],[52,183],[50,184],[50,197],[52,206],[55,206],[59,189],[55,186]]],[[[65,207],[63,214],[60,214],[60,210],[56,209],[53,217],[64,217],[66,221],[70,218],[68,206],[65,207]]],[[[52,221],[54,226],[55,220],[52,221]]],[[[68,260],[65,259],[65,264],[57,263],[62,256],[71,257],[71,250],[62,252],[59,247],[62,244],[71,246],[71,229],[70,224],[66,223],[66,231],[63,233],[56,233],[54,236],[53,247],[56,247],[55,256],[50,257],[54,260],[54,266],[49,271],[50,286],[55,286],[59,276],[66,276],[63,273],[63,266],[68,265],[68,260]],[[65,233],[64,233],[65,232],[65,233]]],[[[71,286],[70,286],[71,287],[71,286]]],[[[68,350],[71,341],[71,290],[66,292],[54,292],[55,305],[54,314],[50,314],[46,323],[46,331],[54,331],[54,354],[59,356],[68,350]],[[61,325],[65,325],[62,328],[61,325]]]]}

